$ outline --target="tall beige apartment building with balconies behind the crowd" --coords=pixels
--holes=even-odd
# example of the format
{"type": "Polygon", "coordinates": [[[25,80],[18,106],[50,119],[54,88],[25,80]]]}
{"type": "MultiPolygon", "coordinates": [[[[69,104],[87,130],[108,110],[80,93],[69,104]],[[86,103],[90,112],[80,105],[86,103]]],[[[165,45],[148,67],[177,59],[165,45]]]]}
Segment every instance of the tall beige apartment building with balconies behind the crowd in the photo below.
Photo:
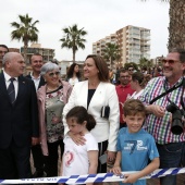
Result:
{"type": "Polygon", "coordinates": [[[116,44],[121,59],[114,61],[114,69],[126,62],[138,63],[140,58],[150,59],[150,29],[126,26],[92,44],[92,53],[103,57],[106,44],[116,44]]]}

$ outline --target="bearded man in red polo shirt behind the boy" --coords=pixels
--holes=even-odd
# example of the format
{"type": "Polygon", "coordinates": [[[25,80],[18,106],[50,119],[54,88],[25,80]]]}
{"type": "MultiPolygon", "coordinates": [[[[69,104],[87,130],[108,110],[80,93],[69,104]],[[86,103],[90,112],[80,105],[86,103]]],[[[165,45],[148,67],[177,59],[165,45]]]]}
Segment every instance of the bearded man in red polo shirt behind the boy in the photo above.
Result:
{"type": "Polygon", "coordinates": [[[134,90],[131,88],[131,75],[127,70],[121,70],[119,75],[120,85],[115,87],[116,95],[119,97],[119,106],[120,106],[120,128],[125,127],[126,123],[123,121],[123,106],[126,99],[128,99],[134,90]]]}

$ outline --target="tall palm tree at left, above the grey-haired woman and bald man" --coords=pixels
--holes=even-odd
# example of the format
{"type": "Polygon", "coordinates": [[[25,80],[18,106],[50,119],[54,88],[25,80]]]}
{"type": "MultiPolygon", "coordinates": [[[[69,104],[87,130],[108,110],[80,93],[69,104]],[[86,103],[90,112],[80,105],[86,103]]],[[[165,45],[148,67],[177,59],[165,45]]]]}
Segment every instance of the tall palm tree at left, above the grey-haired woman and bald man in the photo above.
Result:
{"type": "Polygon", "coordinates": [[[15,27],[16,29],[12,30],[11,33],[11,38],[22,39],[24,42],[24,59],[25,62],[27,60],[27,47],[29,41],[37,41],[38,40],[38,29],[35,26],[39,21],[35,21],[32,23],[33,18],[28,16],[28,14],[24,15],[18,15],[21,23],[13,22],[11,23],[12,27],[15,27]]]}

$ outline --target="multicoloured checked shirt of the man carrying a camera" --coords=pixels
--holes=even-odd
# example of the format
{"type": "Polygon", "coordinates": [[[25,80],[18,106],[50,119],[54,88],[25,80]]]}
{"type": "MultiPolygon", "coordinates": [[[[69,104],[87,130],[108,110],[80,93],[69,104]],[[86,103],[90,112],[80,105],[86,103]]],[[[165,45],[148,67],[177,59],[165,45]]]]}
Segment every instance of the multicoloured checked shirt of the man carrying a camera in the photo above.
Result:
{"type": "MultiPolygon", "coordinates": [[[[180,85],[183,78],[180,78],[174,86],[180,85]]],[[[165,81],[164,76],[152,78],[144,89],[141,97],[139,98],[144,103],[149,104],[149,102],[164,92],[165,90],[172,88],[170,84],[165,81]],[[164,85],[165,84],[165,85],[164,85]]],[[[159,98],[152,104],[158,104],[163,107],[170,104],[168,98],[174,102],[180,109],[182,109],[181,104],[181,96],[182,96],[183,86],[174,89],[172,92],[159,98]]],[[[185,94],[183,94],[183,101],[185,103],[185,94]]],[[[160,145],[169,144],[169,143],[178,143],[185,141],[185,133],[181,135],[173,135],[171,132],[171,123],[170,123],[171,113],[165,111],[163,118],[157,118],[155,114],[147,115],[145,121],[144,128],[148,131],[156,139],[156,141],[160,145]]]]}

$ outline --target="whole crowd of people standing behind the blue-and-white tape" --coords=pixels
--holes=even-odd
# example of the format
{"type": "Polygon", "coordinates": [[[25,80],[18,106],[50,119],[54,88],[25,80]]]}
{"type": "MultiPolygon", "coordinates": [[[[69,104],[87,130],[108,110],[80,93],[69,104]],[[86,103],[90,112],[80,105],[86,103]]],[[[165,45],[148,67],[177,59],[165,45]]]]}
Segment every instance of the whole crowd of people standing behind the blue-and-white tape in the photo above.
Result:
{"type": "Polygon", "coordinates": [[[63,81],[58,64],[34,53],[24,76],[24,58],[0,45],[0,178],[106,173],[112,163],[116,175],[137,171],[124,184],[145,185],[139,178],[156,169],[184,165],[185,50],[172,49],[162,65],[155,76],[120,69],[115,82],[89,54],[84,76],[73,63],[63,81]]]}

